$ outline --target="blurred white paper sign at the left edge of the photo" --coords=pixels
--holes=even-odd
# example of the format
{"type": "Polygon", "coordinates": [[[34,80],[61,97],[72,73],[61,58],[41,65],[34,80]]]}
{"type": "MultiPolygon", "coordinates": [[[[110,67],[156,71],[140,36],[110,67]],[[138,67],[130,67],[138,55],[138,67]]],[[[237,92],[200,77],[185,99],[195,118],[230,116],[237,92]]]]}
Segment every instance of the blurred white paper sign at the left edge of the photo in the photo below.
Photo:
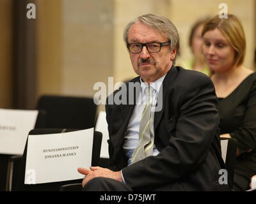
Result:
{"type": "Polygon", "coordinates": [[[38,110],[0,108],[0,154],[22,155],[29,131],[35,128],[38,110]]]}

